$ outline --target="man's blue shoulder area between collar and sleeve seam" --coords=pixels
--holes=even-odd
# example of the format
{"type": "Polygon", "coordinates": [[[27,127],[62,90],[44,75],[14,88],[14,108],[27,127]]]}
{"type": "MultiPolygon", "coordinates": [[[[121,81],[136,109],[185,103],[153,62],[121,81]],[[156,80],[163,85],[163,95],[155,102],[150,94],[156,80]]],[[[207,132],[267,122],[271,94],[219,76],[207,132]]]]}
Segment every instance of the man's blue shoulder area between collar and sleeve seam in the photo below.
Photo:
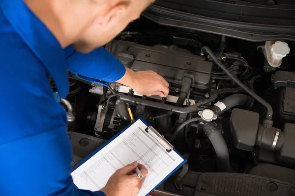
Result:
{"type": "Polygon", "coordinates": [[[0,145],[66,127],[49,73],[0,12],[0,145]]]}

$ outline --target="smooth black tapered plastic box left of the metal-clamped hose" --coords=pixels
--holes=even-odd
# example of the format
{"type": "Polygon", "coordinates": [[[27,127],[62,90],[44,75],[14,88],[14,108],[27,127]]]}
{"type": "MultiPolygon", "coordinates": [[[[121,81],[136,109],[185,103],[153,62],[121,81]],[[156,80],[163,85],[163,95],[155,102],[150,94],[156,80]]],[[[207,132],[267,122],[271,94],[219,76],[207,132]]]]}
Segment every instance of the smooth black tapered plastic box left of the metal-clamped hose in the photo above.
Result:
{"type": "Polygon", "coordinates": [[[259,126],[259,114],[235,108],[231,116],[231,128],[236,148],[252,151],[259,126]]]}

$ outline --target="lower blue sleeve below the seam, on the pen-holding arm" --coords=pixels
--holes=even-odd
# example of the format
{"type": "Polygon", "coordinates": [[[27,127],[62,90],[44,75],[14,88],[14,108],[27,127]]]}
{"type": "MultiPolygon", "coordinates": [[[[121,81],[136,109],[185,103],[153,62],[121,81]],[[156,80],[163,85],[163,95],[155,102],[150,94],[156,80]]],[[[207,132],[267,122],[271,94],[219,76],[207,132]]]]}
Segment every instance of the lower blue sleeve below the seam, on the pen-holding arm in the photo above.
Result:
{"type": "Polygon", "coordinates": [[[2,196],[105,196],[75,187],[64,126],[4,145],[0,155],[2,196]]]}

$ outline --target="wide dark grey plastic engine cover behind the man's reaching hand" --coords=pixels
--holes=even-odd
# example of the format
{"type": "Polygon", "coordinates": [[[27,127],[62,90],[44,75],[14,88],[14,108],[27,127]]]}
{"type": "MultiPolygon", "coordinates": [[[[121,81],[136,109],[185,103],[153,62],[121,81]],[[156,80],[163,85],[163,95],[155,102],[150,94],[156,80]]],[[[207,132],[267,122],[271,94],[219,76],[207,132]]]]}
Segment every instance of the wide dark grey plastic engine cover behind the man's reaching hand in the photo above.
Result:
{"type": "Polygon", "coordinates": [[[172,87],[181,88],[184,75],[191,74],[194,90],[208,92],[210,89],[213,63],[186,49],[175,45],[148,47],[133,42],[115,41],[112,53],[126,67],[134,71],[154,71],[163,76],[172,87]]]}

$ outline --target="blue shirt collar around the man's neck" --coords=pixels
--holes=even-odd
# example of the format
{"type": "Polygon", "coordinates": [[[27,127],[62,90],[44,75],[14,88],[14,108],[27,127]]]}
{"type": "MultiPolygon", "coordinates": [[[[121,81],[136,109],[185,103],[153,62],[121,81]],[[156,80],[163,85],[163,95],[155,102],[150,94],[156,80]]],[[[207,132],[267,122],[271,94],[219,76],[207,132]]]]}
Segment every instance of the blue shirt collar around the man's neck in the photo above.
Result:
{"type": "Polygon", "coordinates": [[[58,40],[31,12],[23,0],[0,0],[0,9],[15,31],[46,67],[56,83],[59,95],[65,98],[69,89],[68,73],[64,51],[58,40]]]}

